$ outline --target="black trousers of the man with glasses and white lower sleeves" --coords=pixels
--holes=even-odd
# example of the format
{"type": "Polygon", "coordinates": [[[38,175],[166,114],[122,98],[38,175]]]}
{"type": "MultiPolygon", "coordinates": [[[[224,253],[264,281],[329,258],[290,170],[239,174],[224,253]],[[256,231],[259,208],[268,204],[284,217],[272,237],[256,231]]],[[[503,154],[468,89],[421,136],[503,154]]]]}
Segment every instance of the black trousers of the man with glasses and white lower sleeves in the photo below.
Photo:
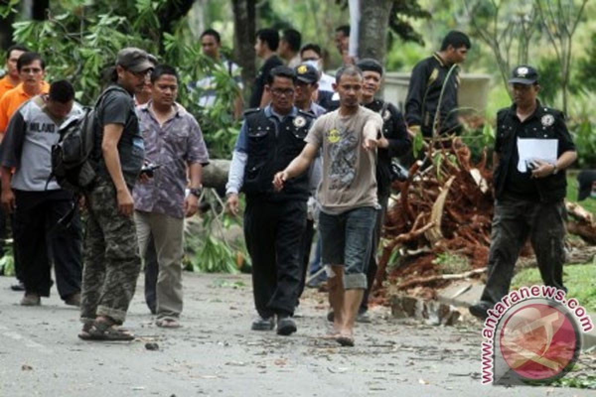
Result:
{"type": "Polygon", "coordinates": [[[300,287],[306,201],[247,196],[244,239],[253,265],[254,306],[261,317],[292,315],[300,287]]]}

